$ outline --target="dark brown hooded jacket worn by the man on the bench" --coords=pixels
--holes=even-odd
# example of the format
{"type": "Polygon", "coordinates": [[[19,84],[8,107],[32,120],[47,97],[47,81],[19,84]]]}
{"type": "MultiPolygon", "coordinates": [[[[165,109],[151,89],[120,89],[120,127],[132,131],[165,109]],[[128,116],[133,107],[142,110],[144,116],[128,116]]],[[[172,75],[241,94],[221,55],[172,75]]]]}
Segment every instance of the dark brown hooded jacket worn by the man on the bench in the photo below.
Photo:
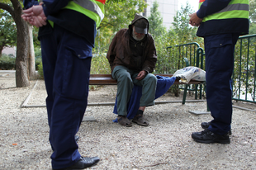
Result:
{"type": "Polygon", "coordinates": [[[141,64],[139,67],[136,66],[134,57],[132,57],[134,51],[131,50],[130,44],[135,43],[136,45],[136,43],[140,43],[142,41],[136,41],[131,38],[132,25],[135,23],[135,21],[142,18],[148,21],[145,17],[136,14],[135,19],[131,21],[131,24],[129,25],[129,29],[121,29],[116,33],[113,40],[111,41],[111,45],[109,46],[109,50],[107,52],[107,59],[111,66],[111,72],[116,67],[116,65],[122,65],[126,68],[138,72],[145,70],[147,73],[152,73],[154,71],[154,67],[157,61],[157,55],[154,45],[154,39],[149,33],[145,35],[145,38],[143,39],[144,49],[141,56],[141,64]],[[135,42],[130,43],[130,40],[134,40],[135,42]]]}

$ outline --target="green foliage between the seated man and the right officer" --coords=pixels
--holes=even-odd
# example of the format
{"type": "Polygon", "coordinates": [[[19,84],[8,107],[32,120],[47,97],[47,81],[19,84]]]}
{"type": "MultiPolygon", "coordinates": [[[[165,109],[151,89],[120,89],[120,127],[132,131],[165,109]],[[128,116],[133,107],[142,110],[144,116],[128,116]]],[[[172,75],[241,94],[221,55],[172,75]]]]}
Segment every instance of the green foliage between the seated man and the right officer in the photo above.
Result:
{"type": "Polygon", "coordinates": [[[177,69],[186,67],[184,57],[188,58],[190,65],[196,66],[195,58],[199,46],[187,44],[197,42],[202,46],[203,40],[196,35],[197,27],[188,24],[190,13],[192,9],[187,3],[174,17],[173,28],[157,37],[154,36],[158,52],[158,73],[174,73],[177,69]]]}

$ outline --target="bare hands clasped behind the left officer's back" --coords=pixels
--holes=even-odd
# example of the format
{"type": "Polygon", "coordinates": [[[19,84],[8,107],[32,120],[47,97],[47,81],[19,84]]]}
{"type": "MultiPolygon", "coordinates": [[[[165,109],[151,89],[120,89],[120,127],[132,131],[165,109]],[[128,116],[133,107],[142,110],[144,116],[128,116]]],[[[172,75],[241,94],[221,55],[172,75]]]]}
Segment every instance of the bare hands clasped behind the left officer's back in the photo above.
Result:
{"type": "Polygon", "coordinates": [[[28,21],[32,26],[36,27],[45,26],[47,23],[45,12],[41,4],[23,10],[21,17],[25,21],[28,21]]]}

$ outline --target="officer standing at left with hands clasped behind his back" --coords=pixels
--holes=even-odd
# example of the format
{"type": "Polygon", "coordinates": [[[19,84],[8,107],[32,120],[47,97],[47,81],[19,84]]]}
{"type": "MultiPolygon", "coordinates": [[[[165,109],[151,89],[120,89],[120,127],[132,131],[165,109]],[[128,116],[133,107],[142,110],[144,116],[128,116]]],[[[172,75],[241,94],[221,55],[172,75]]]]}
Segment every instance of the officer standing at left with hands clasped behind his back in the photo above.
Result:
{"type": "Polygon", "coordinates": [[[40,27],[52,168],[88,168],[100,159],[82,157],[75,135],[88,104],[92,47],[105,0],[35,2],[24,0],[28,9],[21,17],[40,27]]]}

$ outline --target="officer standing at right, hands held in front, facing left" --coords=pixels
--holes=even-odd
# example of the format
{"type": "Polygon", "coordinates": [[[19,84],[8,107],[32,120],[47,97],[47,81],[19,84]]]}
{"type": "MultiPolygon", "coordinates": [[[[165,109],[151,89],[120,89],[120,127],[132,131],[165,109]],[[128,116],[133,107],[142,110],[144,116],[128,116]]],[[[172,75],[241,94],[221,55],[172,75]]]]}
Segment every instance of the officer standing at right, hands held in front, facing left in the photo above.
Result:
{"type": "Polygon", "coordinates": [[[249,33],[249,0],[200,0],[199,10],[189,23],[199,26],[206,52],[206,99],[213,120],[203,122],[206,130],[192,133],[200,143],[230,144],[232,118],[231,75],[235,44],[249,33]]]}

